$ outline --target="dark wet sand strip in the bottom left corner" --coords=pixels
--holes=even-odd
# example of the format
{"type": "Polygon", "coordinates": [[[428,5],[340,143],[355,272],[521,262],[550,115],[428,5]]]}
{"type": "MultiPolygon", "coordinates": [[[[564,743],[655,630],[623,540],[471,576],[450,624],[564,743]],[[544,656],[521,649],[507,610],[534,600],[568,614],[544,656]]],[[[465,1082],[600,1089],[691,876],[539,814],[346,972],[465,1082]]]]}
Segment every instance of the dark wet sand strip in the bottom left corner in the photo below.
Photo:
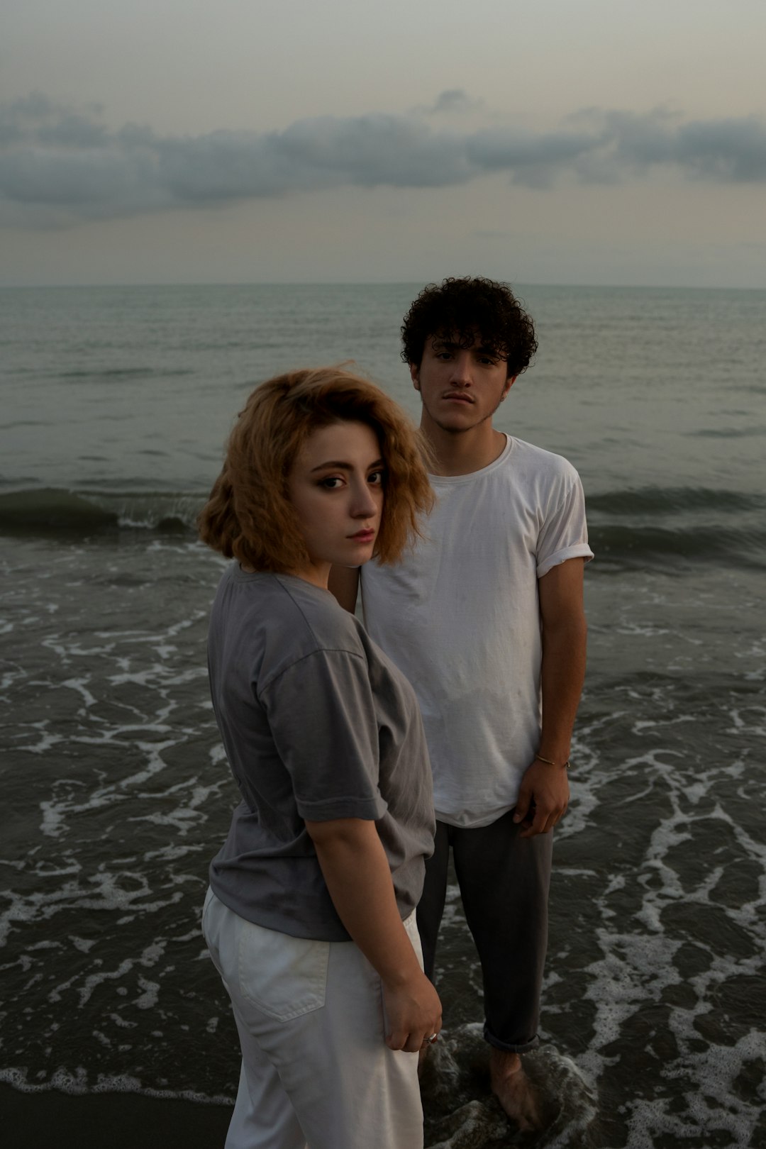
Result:
{"type": "Polygon", "coordinates": [[[220,1149],[232,1110],[136,1093],[22,1093],[0,1085],[6,1149],[220,1149]]]}

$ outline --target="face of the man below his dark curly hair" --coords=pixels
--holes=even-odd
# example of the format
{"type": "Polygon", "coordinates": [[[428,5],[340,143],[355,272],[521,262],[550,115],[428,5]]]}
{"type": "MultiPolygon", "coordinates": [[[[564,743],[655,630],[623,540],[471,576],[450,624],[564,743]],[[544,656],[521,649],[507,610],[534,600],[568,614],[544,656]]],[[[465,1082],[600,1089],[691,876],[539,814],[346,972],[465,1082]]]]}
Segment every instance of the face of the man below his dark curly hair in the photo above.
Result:
{"type": "Polygon", "coordinates": [[[459,434],[493,415],[516,378],[506,377],[508,364],[477,337],[461,347],[448,336],[431,336],[420,365],[410,363],[410,375],[423,400],[423,425],[459,434]]]}

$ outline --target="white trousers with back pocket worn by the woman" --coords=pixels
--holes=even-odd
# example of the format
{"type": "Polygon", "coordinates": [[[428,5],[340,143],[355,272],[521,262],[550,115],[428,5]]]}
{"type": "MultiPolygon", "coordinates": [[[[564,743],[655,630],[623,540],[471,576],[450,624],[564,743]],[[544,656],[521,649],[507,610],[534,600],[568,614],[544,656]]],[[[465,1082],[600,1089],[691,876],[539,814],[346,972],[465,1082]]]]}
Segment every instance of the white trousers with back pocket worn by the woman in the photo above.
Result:
{"type": "MultiPolygon", "coordinates": [[[[421,961],[415,913],[404,927],[421,961]]],[[[423,1149],[418,1055],[386,1046],[380,978],[354,942],[264,930],[211,889],[202,931],[242,1049],[226,1149],[423,1149]]]]}

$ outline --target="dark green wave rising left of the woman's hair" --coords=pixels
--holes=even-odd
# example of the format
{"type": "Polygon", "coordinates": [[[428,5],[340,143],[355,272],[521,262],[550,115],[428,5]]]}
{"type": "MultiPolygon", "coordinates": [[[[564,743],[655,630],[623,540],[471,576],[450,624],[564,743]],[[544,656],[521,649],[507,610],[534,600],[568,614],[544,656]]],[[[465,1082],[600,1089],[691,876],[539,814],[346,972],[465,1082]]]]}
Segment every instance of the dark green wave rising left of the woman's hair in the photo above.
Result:
{"type": "Polygon", "coordinates": [[[117,529],[193,532],[204,495],[83,492],[60,487],[0,494],[0,530],[24,534],[98,534],[117,529]]]}

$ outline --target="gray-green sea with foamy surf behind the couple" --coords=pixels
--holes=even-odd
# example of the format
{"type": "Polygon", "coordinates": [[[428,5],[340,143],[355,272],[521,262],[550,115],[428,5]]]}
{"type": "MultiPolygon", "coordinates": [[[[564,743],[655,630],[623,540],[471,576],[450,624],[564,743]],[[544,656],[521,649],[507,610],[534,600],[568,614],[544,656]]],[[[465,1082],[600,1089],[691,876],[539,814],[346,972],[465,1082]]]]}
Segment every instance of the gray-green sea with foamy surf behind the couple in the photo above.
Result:
{"type": "MultiPolygon", "coordinates": [[[[399,329],[420,286],[0,291],[15,1089],[233,1100],[200,933],[238,801],[206,672],[225,561],[195,515],[276,372],[353,361],[417,419],[399,329]]],[[[596,556],[541,1032],[570,1087],[524,1143],[763,1149],[766,292],[516,290],[540,349],[497,426],[578,468],[596,556]]],[[[439,977],[447,1031],[478,1023],[454,884],[439,977]]]]}

